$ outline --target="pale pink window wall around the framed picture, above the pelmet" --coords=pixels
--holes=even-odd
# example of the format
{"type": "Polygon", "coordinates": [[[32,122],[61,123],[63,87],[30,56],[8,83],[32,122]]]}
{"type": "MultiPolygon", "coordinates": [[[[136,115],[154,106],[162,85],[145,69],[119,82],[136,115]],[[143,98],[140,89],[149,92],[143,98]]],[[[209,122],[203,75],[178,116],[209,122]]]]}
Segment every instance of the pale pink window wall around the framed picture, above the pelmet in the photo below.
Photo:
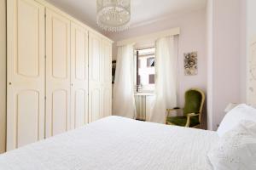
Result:
{"type": "MultiPolygon", "coordinates": [[[[207,91],[207,33],[206,33],[206,9],[201,9],[189,14],[173,16],[166,20],[160,20],[147,26],[131,28],[118,34],[109,34],[114,41],[130,37],[143,36],[156,31],[164,31],[174,27],[181,28],[178,39],[178,68],[179,68],[179,105],[183,106],[183,95],[188,88],[201,88],[207,91]],[[183,70],[183,53],[198,52],[198,75],[186,77],[183,70]]],[[[117,50],[113,47],[113,59],[116,59],[117,50]]]]}

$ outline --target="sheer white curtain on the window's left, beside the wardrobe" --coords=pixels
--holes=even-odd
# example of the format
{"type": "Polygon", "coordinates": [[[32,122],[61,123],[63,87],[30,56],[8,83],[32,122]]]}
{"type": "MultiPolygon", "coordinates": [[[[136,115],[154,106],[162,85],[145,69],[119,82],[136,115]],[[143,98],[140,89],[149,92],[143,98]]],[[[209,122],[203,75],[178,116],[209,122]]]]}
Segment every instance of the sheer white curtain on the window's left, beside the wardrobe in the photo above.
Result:
{"type": "Polygon", "coordinates": [[[118,48],[115,81],[113,84],[113,115],[116,116],[135,118],[133,58],[132,45],[118,48]]]}

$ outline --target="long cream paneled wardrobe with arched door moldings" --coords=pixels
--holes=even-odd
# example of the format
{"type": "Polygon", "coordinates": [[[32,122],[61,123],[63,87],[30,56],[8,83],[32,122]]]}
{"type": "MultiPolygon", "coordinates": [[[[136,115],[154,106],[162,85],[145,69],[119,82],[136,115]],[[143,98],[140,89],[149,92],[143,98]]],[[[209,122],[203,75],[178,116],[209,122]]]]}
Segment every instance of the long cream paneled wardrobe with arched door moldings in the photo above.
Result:
{"type": "Polygon", "coordinates": [[[108,37],[44,0],[8,0],[7,20],[7,150],[111,115],[108,37]]]}

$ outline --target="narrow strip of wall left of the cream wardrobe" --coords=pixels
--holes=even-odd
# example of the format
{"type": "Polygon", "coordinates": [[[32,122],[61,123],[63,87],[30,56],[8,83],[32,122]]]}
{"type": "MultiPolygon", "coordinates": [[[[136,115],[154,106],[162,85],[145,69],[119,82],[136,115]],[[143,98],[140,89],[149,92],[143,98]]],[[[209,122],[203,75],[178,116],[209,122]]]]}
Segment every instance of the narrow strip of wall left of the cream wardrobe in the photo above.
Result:
{"type": "Polygon", "coordinates": [[[5,151],[6,127],[6,0],[0,0],[0,153],[5,151]]]}

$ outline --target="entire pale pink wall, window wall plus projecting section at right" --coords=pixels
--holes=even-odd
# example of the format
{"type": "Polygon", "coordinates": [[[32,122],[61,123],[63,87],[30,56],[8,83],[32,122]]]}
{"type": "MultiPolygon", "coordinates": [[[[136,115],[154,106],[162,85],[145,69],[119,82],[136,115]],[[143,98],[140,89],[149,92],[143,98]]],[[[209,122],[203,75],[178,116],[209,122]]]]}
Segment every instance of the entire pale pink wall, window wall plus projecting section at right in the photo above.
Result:
{"type": "MultiPolygon", "coordinates": [[[[215,130],[230,102],[246,101],[247,39],[256,35],[255,0],[208,0],[207,9],[131,28],[108,37],[119,41],[180,27],[179,105],[187,88],[207,91],[208,129],[215,130]],[[247,18],[247,20],[246,20],[247,18]],[[183,76],[183,53],[198,51],[199,74],[183,76]]],[[[113,49],[113,58],[116,48],[113,49]]]]}

